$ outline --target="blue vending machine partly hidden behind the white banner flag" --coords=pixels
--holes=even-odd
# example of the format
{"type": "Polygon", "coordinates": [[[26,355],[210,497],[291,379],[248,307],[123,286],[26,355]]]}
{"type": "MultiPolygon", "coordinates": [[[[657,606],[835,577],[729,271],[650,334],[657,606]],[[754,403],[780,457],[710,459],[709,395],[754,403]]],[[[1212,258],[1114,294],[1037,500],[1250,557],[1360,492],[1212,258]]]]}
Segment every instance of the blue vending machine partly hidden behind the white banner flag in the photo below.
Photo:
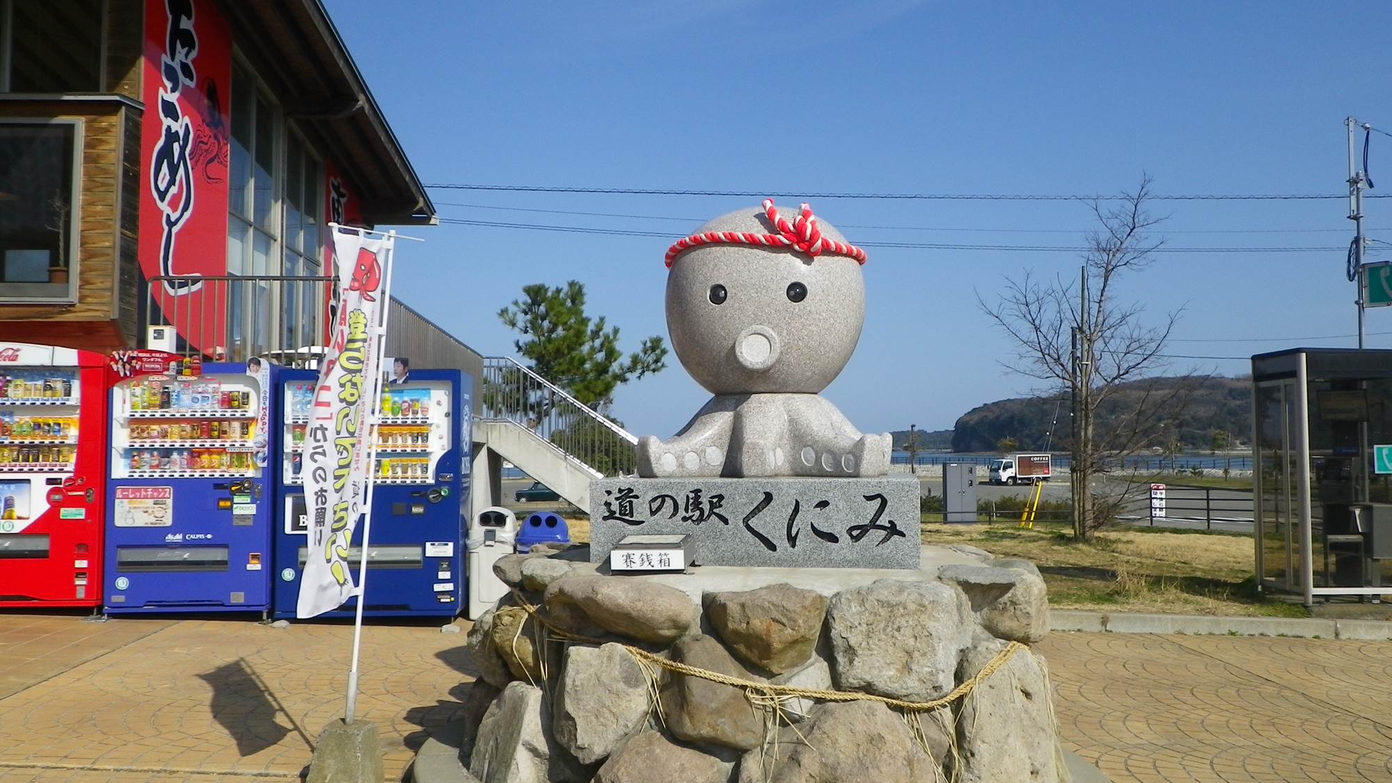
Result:
{"type": "MultiPolygon", "coordinates": [[[[305,568],[309,520],[301,450],[317,376],[281,371],[285,411],[277,496],[276,617],[295,617],[305,568]]],[[[386,411],[377,429],[367,600],[363,614],[452,617],[465,595],[464,536],[472,465],[473,378],[457,369],[412,369],[402,383],[386,383],[386,411]]],[[[354,529],[348,561],[358,578],[362,522],[354,529]]],[[[356,598],[322,617],[351,617],[356,598]]]]}

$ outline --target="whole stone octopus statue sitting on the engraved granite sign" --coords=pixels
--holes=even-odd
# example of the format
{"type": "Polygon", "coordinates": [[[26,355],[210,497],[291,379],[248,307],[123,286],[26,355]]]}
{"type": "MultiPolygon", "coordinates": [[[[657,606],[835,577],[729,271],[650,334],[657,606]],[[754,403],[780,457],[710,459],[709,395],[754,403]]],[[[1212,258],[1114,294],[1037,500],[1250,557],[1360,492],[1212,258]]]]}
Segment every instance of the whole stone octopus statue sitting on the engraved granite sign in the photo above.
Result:
{"type": "Polygon", "coordinates": [[[638,442],[638,474],[877,476],[889,433],[862,435],[818,393],[846,366],[864,323],[864,251],[803,203],[722,215],[667,252],[667,329],[714,397],[667,440],[638,442]]]}

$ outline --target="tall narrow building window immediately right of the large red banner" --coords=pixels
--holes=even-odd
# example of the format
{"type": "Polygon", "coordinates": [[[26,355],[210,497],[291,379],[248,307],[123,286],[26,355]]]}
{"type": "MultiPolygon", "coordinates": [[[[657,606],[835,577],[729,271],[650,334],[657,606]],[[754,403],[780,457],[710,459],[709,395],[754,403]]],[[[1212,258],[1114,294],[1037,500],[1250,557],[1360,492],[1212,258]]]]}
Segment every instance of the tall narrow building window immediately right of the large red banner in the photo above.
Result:
{"type": "MultiPolygon", "coordinates": [[[[232,139],[228,162],[227,273],[281,274],[276,107],[251,71],[232,68],[232,139]]],[[[228,293],[231,358],[271,350],[271,316],[280,309],[269,280],[234,281],[228,293]]]]}

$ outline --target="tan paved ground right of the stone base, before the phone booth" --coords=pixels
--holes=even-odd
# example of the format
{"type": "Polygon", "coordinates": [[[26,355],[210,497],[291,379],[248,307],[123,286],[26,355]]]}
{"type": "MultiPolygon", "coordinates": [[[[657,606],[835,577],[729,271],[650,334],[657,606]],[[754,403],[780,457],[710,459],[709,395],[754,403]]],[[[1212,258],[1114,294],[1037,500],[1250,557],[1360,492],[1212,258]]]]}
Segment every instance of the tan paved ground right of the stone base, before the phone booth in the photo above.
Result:
{"type": "Polygon", "coordinates": [[[1065,745],[1114,783],[1392,780],[1392,642],[1050,634],[1065,745]]]}

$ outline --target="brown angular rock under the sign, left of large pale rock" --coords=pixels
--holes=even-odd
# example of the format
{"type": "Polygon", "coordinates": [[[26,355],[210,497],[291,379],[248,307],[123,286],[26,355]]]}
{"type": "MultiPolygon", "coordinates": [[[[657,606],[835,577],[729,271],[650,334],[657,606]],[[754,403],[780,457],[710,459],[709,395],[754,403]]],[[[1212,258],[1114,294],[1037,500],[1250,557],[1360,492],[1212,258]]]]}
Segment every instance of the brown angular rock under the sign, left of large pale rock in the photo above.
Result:
{"type": "Polygon", "coordinates": [[[746,592],[709,592],[702,603],[707,620],[731,652],[775,674],[791,672],[812,658],[827,616],[827,599],[821,594],[789,584],[746,592]]]}

